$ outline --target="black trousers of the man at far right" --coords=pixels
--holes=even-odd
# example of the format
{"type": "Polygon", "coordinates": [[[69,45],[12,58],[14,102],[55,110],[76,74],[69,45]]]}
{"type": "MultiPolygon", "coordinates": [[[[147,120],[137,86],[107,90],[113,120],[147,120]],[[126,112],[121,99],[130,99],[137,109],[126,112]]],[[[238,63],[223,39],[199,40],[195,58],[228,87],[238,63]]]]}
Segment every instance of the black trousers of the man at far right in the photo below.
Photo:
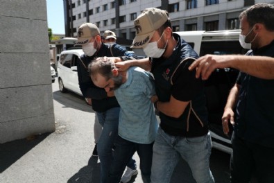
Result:
{"type": "MultiPolygon", "coordinates": [[[[273,139],[274,140],[274,139],[273,139]]],[[[274,148],[245,141],[232,134],[231,182],[250,182],[255,176],[259,183],[274,182],[274,148]]]]}

